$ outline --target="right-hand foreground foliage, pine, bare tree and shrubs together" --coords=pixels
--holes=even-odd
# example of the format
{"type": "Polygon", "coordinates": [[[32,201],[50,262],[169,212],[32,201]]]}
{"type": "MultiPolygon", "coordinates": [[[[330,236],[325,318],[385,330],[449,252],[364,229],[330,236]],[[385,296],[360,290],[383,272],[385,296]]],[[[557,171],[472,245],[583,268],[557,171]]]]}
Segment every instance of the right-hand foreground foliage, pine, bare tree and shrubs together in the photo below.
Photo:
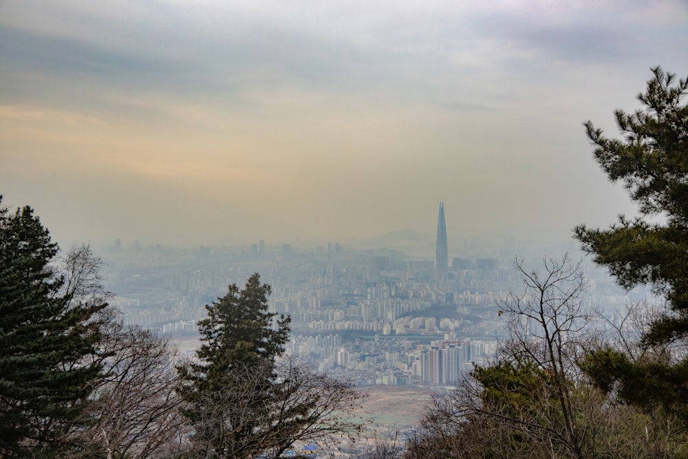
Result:
{"type": "Polygon", "coordinates": [[[433,399],[408,458],[688,457],[688,81],[652,73],[643,109],[615,111],[621,138],[585,123],[640,216],[575,235],[621,286],[647,284],[666,308],[629,305],[608,320],[581,308],[566,259],[543,275],[517,264],[526,291],[499,304],[510,339],[433,399]],[[590,333],[595,322],[606,329],[590,333]]]}

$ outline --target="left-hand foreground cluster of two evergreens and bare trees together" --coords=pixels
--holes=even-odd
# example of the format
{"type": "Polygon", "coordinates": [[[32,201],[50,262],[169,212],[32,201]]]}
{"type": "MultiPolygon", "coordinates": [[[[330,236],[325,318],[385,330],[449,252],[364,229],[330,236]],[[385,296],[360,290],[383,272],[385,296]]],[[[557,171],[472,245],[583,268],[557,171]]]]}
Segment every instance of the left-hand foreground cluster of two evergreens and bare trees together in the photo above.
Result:
{"type": "Polygon", "coordinates": [[[283,355],[290,320],[259,275],[206,306],[179,365],[169,337],[107,306],[102,266],[0,205],[0,457],[292,457],[362,428],[352,385],[283,355]]]}

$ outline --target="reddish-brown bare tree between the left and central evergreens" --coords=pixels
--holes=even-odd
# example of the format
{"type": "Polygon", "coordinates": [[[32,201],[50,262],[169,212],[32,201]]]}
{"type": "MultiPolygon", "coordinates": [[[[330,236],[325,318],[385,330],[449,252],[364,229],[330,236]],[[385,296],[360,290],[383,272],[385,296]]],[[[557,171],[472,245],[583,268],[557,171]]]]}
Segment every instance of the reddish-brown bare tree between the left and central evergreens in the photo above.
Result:
{"type": "Polygon", "coordinates": [[[121,321],[110,324],[103,351],[105,377],[94,388],[78,431],[84,451],[108,458],[167,457],[179,449],[185,431],[175,392],[177,349],[169,337],[121,321]]]}

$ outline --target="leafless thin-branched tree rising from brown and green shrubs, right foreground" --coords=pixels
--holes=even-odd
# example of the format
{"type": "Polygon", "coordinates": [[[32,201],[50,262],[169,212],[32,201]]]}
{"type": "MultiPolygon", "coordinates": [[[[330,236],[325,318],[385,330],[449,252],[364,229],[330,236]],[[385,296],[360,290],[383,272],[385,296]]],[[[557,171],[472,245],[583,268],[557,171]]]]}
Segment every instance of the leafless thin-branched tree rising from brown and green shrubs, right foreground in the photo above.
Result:
{"type": "Polygon", "coordinates": [[[524,288],[497,304],[508,339],[492,365],[475,367],[457,389],[433,399],[409,457],[593,458],[628,451],[617,437],[623,410],[577,366],[596,342],[591,323],[599,317],[582,303],[588,282],[580,262],[565,255],[546,259],[541,271],[519,260],[515,268],[524,288]],[[418,456],[427,450],[442,452],[418,456]]]}

